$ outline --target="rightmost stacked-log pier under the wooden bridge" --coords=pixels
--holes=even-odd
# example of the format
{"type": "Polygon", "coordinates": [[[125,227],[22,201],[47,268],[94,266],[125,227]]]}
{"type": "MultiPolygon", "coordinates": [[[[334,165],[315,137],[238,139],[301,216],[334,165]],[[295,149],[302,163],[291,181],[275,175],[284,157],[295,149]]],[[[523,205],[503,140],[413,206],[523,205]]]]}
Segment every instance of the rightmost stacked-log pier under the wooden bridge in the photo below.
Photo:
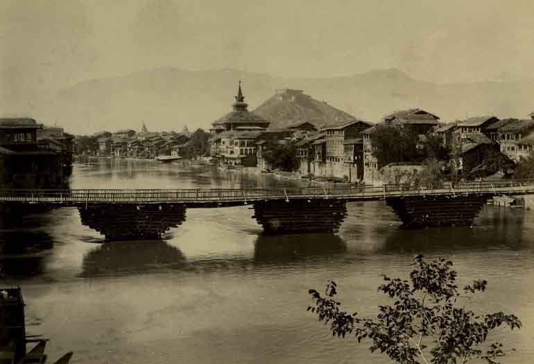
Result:
{"type": "Polygon", "coordinates": [[[386,204],[406,228],[472,226],[487,195],[388,197],[386,204]]]}

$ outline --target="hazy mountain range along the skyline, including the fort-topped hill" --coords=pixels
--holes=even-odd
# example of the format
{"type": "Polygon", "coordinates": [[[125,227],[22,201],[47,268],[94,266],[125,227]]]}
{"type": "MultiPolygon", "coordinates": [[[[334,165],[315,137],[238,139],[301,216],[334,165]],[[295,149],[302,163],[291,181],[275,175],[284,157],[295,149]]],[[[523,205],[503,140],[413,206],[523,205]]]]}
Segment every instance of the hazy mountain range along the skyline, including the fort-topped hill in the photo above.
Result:
{"type": "Polygon", "coordinates": [[[235,69],[164,67],[84,81],[60,92],[35,90],[19,97],[18,105],[8,99],[9,92],[3,92],[0,116],[30,116],[76,134],[138,130],[143,122],[149,130],[182,130],[184,125],[189,130],[208,129],[231,110],[239,80],[243,81],[249,110],[257,108],[258,113],[265,113],[275,120],[273,124],[281,126],[286,123],[284,117],[309,115],[320,123],[337,113],[377,122],[394,110],[406,108],[422,108],[443,122],[492,114],[523,118],[534,110],[532,80],[440,85],[415,80],[397,69],[335,78],[283,78],[235,69]],[[305,107],[299,101],[278,103],[274,108],[273,95],[282,88],[304,90],[312,99],[305,107]],[[322,101],[337,111],[320,106],[322,101]]]}

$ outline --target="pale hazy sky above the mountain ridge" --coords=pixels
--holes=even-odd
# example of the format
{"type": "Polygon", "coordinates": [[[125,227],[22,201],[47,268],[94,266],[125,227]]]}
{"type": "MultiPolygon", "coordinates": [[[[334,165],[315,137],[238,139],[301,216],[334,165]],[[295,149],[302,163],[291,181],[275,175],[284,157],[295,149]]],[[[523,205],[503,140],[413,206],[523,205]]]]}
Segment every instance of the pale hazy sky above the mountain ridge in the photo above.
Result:
{"type": "Polygon", "coordinates": [[[533,45],[531,0],[0,0],[4,92],[162,66],[502,80],[534,74],[533,45]]]}

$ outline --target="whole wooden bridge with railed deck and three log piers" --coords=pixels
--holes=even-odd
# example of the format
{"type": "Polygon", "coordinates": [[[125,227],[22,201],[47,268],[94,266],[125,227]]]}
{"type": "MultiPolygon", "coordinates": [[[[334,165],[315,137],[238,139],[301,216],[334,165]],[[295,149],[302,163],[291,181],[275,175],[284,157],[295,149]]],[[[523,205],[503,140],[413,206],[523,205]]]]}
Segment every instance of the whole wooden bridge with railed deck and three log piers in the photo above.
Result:
{"type": "Polygon", "coordinates": [[[186,208],[252,205],[268,233],[334,231],[346,202],[386,200],[405,226],[473,224],[490,197],[534,195],[532,180],[499,180],[410,188],[406,185],[336,188],[195,190],[0,190],[3,206],[74,206],[82,222],[106,238],[154,238],[185,220],[186,208]]]}

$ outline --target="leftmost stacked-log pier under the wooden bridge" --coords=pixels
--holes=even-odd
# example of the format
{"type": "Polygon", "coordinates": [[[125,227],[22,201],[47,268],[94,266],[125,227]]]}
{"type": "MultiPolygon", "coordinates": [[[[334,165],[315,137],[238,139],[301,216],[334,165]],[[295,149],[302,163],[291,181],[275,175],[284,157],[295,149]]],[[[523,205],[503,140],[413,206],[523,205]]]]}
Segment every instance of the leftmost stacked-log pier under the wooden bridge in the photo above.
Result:
{"type": "Polygon", "coordinates": [[[107,204],[80,206],[82,224],[108,241],[158,239],[185,221],[182,204],[107,204]]]}

